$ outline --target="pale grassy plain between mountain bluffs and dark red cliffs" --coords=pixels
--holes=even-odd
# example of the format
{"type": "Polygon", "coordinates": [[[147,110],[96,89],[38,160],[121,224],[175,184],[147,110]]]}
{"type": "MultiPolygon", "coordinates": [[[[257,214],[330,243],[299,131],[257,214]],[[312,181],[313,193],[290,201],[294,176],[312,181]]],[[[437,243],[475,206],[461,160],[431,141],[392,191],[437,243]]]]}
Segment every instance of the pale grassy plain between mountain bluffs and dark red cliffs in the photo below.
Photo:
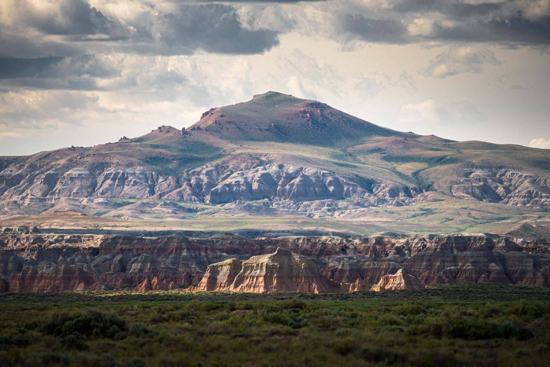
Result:
{"type": "MultiPolygon", "coordinates": [[[[440,194],[441,196],[445,196],[440,194]]],[[[443,198],[442,198],[443,199],[443,198]]],[[[120,201],[120,199],[109,199],[120,201]]],[[[124,205],[143,199],[125,199],[124,205]]],[[[151,200],[151,199],[146,199],[151,200]]],[[[159,202],[162,200],[158,200],[159,202]]],[[[36,216],[5,218],[4,226],[36,226],[38,228],[84,228],[128,231],[212,229],[313,229],[367,235],[376,232],[396,233],[500,233],[522,224],[537,223],[541,233],[550,232],[550,212],[526,207],[461,200],[445,196],[444,200],[420,202],[401,207],[371,207],[353,215],[327,213],[310,218],[296,212],[286,215],[245,215],[218,206],[174,202],[190,211],[183,220],[124,220],[119,218],[83,216],[74,212],[47,212],[36,216]]],[[[529,236],[527,236],[529,237],[529,236]]],[[[532,235],[533,238],[537,234],[532,235]]]]}

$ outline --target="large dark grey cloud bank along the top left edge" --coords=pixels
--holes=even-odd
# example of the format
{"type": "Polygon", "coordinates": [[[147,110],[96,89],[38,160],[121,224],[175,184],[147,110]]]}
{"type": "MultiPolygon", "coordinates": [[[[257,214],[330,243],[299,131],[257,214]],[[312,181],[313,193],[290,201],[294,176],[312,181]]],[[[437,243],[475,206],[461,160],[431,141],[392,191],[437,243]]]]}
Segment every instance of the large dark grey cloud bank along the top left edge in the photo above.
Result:
{"type": "Polygon", "coordinates": [[[279,44],[279,32],[251,29],[236,6],[218,3],[87,0],[4,0],[0,3],[0,57],[44,58],[81,54],[256,54],[279,44]]]}

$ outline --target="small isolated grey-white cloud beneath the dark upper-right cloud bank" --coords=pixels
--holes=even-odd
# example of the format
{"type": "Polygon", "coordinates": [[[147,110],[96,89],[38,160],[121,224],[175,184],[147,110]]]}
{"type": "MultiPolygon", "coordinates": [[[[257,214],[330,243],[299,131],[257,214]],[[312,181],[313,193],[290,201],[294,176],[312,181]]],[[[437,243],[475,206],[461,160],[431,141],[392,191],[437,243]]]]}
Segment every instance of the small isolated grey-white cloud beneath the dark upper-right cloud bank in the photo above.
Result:
{"type": "Polygon", "coordinates": [[[486,64],[498,66],[502,62],[488,48],[452,47],[432,59],[421,74],[447,78],[462,73],[481,73],[486,64]]]}

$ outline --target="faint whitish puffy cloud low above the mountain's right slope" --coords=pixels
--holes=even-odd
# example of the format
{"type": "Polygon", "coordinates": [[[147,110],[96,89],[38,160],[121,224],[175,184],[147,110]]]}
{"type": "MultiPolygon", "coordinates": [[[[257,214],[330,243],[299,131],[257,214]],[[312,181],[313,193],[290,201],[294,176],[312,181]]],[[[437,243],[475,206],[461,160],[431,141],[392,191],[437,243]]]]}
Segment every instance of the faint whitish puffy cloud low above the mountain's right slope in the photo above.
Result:
{"type": "Polygon", "coordinates": [[[487,119],[471,102],[460,101],[442,105],[427,98],[417,103],[401,106],[399,122],[421,124],[476,123],[487,119]]]}

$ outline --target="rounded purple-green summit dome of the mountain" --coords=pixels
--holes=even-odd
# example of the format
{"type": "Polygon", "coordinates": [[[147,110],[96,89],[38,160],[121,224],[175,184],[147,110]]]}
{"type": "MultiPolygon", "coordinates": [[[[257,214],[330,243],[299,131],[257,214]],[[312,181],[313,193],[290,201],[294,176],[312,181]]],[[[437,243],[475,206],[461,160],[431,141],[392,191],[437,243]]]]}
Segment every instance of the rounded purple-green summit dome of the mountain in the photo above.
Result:
{"type": "Polygon", "coordinates": [[[307,145],[352,145],[367,136],[410,136],[379,127],[326,103],[268,91],[250,101],[215,107],[191,130],[230,141],[277,141],[307,145]]]}

